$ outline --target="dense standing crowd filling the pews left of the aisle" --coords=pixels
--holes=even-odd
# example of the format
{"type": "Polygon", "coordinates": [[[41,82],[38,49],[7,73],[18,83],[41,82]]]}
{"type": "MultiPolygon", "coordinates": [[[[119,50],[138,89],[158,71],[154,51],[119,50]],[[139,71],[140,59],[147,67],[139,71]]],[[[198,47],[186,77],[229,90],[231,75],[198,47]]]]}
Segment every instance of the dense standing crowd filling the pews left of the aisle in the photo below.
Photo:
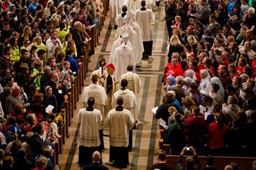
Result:
{"type": "Polygon", "coordinates": [[[55,122],[102,15],[100,0],[0,1],[0,169],[54,169],[55,122]]]}

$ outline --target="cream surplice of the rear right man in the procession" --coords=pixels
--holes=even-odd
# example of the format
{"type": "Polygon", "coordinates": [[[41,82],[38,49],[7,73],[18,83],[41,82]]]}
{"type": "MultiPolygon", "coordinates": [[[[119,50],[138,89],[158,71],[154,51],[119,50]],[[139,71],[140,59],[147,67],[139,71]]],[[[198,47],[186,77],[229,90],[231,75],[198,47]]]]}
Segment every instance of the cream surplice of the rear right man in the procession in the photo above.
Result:
{"type": "Polygon", "coordinates": [[[128,147],[129,131],[134,126],[132,113],[128,109],[116,111],[111,109],[104,121],[106,127],[109,127],[109,144],[115,147],[128,147]]]}

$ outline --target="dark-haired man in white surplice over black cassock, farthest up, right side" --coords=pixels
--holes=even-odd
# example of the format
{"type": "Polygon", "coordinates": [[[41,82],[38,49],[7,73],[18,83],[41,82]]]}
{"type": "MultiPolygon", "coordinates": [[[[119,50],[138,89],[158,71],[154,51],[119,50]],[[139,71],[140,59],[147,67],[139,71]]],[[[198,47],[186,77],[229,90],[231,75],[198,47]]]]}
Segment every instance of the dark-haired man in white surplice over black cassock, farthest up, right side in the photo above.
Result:
{"type": "Polygon", "coordinates": [[[142,0],[141,9],[137,10],[135,13],[135,21],[137,21],[139,27],[141,27],[141,35],[144,47],[143,58],[148,58],[148,56],[152,55],[153,31],[151,22],[155,20],[155,16],[152,10],[148,10],[145,5],[145,0],[142,0]]]}

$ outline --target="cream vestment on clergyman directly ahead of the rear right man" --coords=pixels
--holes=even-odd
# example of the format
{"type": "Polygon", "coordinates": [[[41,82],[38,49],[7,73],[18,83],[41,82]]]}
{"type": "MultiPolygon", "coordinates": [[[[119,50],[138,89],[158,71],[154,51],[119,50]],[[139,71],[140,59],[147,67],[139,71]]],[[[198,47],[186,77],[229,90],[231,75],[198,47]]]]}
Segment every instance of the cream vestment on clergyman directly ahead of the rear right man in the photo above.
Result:
{"type": "Polygon", "coordinates": [[[134,95],[134,92],[127,88],[125,90],[119,89],[117,92],[114,93],[112,97],[112,108],[117,107],[117,97],[123,97],[124,104],[122,106],[132,113],[135,121],[138,120],[138,102],[137,97],[134,95]]]}

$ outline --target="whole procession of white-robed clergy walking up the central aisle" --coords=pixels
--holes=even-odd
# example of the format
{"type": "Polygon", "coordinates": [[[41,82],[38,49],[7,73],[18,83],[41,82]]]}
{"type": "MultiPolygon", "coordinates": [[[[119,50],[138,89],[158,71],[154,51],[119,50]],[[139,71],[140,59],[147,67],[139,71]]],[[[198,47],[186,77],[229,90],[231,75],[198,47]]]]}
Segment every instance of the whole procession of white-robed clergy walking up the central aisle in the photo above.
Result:
{"type": "Polygon", "coordinates": [[[103,135],[109,136],[110,143],[106,164],[120,169],[129,165],[132,129],[136,129],[139,120],[137,95],[141,87],[134,71],[140,67],[142,58],[152,55],[151,22],[155,16],[145,6],[144,0],[136,11],[135,3],[122,6],[122,14],[115,19],[117,31],[109,64],[100,58],[100,68],[91,74],[91,84],[83,90],[84,108],[78,114],[79,167],[91,163],[96,150],[104,150],[103,135]]]}

